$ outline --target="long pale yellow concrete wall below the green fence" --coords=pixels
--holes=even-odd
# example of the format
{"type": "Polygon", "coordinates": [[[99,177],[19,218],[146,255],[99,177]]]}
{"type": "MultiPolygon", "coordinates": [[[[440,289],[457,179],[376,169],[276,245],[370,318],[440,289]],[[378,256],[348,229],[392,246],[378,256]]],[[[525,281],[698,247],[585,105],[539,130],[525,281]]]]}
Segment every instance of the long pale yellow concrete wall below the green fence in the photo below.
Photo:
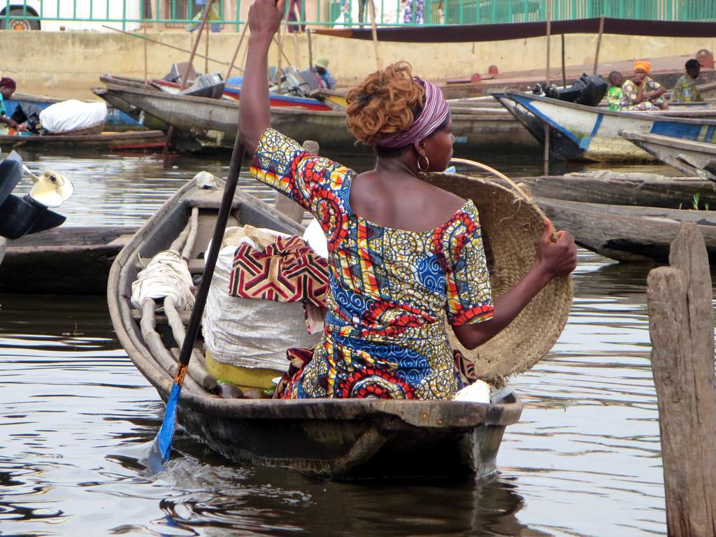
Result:
{"type": "MultiPolygon", "coordinates": [[[[195,34],[187,32],[150,32],[153,39],[190,50],[195,34]]],[[[209,56],[224,62],[231,60],[239,35],[211,34],[209,56]]],[[[248,39],[244,41],[246,44],[248,39]]],[[[312,36],[314,58],[327,56],[329,69],[339,84],[351,84],[376,69],[374,45],[369,41],[354,41],[334,37],[312,36]]],[[[492,43],[404,44],[379,45],[384,62],[406,59],[415,72],[428,79],[466,77],[473,72],[487,72],[495,64],[500,72],[543,67],[546,39],[515,39],[492,43]]],[[[596,36],[566,36],[566,64],[594,62],[596,36]]],[[[639,57],[676,54],[695,54],[697,50],[716,49],[716,37],[654,38],[605,35],[602,38],[600,62],[639,57]]],[[[239,54],[243,66],[246,47],[239,54]]],[[[205,43],[199,47],[205,52],[205,43]]],[[[308,65],[306,34],[284,38],[284,52],[291,63],[300,68],[308,65]],[[295,43],[295,45],[294,45],[295,43]]],[[[269,62],[276,64],[277,49],[271,49],[269,62]]],[[[105,32],[0,32],[0,72],[13,77],[18,91],[52,97],[91,98],[90,87],[99,86],[100,74],[111,72],[132,77],[144,77],[145,42],[136,37],[105,32]]],[[[159,44],[147,44],[147,70],[150,77],[161,77],[173,62],[183,62],[188,52],[169,49],[159,44]]],[[[561,41],[553,37],[551,65],[561,64],[561,41]]],[[[286,61],[284,60],[284,65],[286,61]]],[[[195,61],[198,71],[205,69],[204,59],[195,61]]],[[[226,73],[226,66],[209,62],[210,71],[226,73]]],[[[234,70],[234,74],[238,71],[234,70]]]]}

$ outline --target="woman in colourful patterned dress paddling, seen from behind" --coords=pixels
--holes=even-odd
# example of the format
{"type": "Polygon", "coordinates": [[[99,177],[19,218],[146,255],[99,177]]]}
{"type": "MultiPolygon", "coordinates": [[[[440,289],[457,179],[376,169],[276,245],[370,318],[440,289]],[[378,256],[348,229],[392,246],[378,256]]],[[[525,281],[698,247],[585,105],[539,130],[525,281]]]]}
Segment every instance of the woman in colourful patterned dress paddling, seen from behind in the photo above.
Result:
{"type": "Polygon", "coordinates": [[[311,155],[269,128],[266,56],[283,12],[284,0],[256,0],[249,11],[239,135],[253,177],[318,219],[330,279],[323,338],[283,397],[448,399],[461,382],[445,321],[465,347],[487,342],[574,270],[574,240],[560,231],[552,242],[546,221],[528,274],[493,301],[475,205],[419,178],[447,168],[455,137],[440,89],[405,62],[347,97],[349,130],[374,146],[373,170],[311,155]]]}

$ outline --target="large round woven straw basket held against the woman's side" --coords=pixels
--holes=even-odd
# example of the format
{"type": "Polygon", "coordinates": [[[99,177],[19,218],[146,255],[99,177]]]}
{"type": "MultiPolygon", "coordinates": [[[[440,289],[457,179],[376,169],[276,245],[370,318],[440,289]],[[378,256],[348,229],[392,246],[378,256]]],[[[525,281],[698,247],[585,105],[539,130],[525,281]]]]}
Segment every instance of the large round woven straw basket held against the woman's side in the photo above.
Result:
{"type": "MultiPolygon", "coordinates": [[[[532,266],[544,230],[544,213],[520,193],[489,180],[453,173],[422,176],[428,183],[473,200],[480,213],[493,296],[520,281],[532,266]]],[[[561,334],[572,302],[569,276],[553,279],[512,323],[477,349],[467,350],[448,329],[450,343],[475,364],[480,379],[503,377],[533,367],[561,334]]]]}

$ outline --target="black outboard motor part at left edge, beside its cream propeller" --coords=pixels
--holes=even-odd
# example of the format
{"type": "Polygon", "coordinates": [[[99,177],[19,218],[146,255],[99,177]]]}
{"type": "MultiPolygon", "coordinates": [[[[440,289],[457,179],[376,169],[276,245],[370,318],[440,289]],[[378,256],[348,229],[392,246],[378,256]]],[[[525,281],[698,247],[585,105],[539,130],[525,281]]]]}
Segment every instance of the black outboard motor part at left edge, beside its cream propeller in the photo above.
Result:
{"type": "Polygon", "coordinates": [[[56,228],[66,219],[29,194],[22,198],[11,194],[22,178],[22,170],[22,159],[14,151],[0,162],[0,236],[11,239],[56,228]]]}

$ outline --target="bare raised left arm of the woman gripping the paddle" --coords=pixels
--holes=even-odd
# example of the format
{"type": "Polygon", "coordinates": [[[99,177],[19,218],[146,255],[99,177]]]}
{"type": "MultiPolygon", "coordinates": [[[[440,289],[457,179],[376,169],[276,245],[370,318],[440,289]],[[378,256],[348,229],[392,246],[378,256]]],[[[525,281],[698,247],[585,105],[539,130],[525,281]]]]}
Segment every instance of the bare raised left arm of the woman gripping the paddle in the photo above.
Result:
{"type": "Polygon", "coordinates": [[[281,27],[286,0],[256,0],[248,10],[248,54],[241,83],[238,136],[248,153],[256,152],[258,140],[271,122],[269,100],[269,47],[281,27]]]}

